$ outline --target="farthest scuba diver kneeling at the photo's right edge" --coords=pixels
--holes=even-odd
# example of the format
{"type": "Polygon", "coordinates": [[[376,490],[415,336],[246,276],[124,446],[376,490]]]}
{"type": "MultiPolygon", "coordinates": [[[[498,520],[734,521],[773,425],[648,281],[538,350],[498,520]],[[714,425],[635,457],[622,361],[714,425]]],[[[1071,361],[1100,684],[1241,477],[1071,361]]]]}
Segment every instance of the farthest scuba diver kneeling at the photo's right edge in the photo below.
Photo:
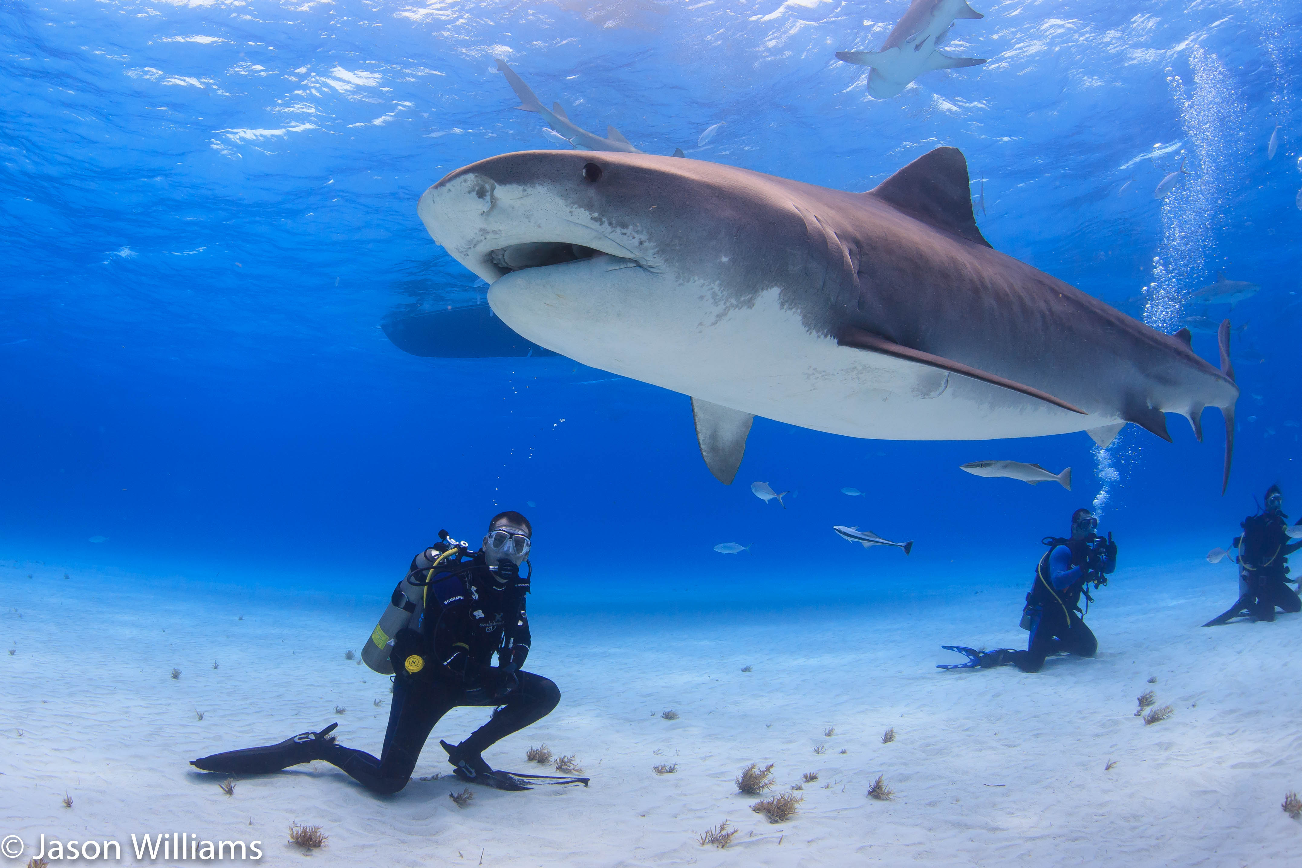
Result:
{"type": "MultiPolygon", "coordinates": [[[[1266,489],[1266,509],[1245,518],[1240,524],[1243,535],[1234,539],[1233,548],[1238,549],[1238,600],[1204,623],[1204,627],[1215,627],[1240,617],[1275,621],[1276,606],[1285,612],[1302,612],[1302,599],[1285,584],[1297,582],[1288,578],[1288,556],[1302,548],[1302,540],[1290,541],[1288,518],[1284,513],[1284,493],[1279,485],[1271,485],[1266,489]]],[[[1217,549],[1212,554],[1224,557],[1225,553],[1217,549]]]]}

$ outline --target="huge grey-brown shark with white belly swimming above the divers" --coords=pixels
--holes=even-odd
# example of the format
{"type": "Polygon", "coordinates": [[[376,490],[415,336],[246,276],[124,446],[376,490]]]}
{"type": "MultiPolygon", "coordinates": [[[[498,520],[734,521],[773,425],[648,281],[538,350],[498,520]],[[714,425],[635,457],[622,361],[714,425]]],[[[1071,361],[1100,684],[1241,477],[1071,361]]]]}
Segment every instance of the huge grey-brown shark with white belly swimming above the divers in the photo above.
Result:
{"type": "Polygon", "coordinates": [[[754,416],[884,440],[988,440],[1165,413],[1225,416],[1238,388],[1190,347],[991,247],[967,163],[940,147],[868,193],[647,154],[523,151],[421,197],[430,236],[525,338],[691,397],[730,483],[754,416]]]}

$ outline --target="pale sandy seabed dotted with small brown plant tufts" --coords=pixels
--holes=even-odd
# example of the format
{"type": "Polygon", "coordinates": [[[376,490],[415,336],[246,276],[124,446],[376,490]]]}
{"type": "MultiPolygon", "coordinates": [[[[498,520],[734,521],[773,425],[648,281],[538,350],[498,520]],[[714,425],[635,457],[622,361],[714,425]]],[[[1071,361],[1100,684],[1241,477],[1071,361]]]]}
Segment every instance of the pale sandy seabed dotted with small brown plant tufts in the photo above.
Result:
{"type": "Polygon", "coordinates": [[[575,755],[591,786],[473,787],[460,808],[448,795],[466,786],[435,777],[449,770],[437,739],[460,740],[487,709],[444,718],[393,796],[324,763],[238,781],[228,796],[225,778],[187,765],[336,720],[344,744],[378,753],[388,679],[345,660],[378,610],[10,563],[0,835],[27,850],[0,864],[25,865],[42,834],[120,841],[129,864],[194,864],[132,851],[133,833],[184,832],[260,841],[262,864],[302,865],[285,834],[294,821],[323,828],[307,859],[332,865],[1302,860],[1302,822],[1280,808],[1302,790],[1302,622],[1199,629],[1233,600],[1229,570],[1120,573],[1088,617],[1098,658],[1052,658],[1039,674],[935,669],[960,661],[941,644],[1025,647],[1025,588],[815,613],[535,613],[527,669],[556,681],[561,704],[486,757],[546,773],[525,761],[546,743],[575,755]],[[1170,720],[1134,716],[1147,690],[1170,720]],[[794,817],[750,809],[756,799],[733,785],[750,763],[773,764],[775,794],[818,774],[794,817]],[[866,796],[878,776],[892,800],[866,796]],[[698,843],[724,820],[738,829],[727,850],[698,843]]]}

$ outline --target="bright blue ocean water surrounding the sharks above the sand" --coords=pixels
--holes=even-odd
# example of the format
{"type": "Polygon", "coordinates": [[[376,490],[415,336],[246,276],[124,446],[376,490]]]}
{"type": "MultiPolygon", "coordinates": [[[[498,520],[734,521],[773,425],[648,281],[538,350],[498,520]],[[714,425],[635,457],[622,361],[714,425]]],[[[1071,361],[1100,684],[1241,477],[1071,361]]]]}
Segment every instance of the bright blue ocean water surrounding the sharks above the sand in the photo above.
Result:
{"type": "MultiPolygon", "coordinates": [[[[1039,537],[1091,504],[1128,565],[1225,545],[1269,483],[1302,493],[1302,14],[975,5],[945,51],[986,65],[874,100],[833,55],[879,46],[900,0],[4,3],[5,557],[379,596],[439,528],[477,539],[519,509],[536,605],[549,586],[572,604],[763,608],[1022,582],[1039,537]],[[484,293],[421,225],[421,193],[553,146],[493,57],[652,154],[866,190],[960,147],[996,249],[1168,332],[1195,314],[1247,325],[1229,492],[1215,413],[1203,444],[1172,418],[1173,444],[1131,427],[1107,450],[760,419],[724,487],[685,396],[568,359],[404,353],[385,316],[484,293]],[[1190,174],[1156,200],[1181,159],[1190,174]],[[1219,269],[1260,293],[1182,303],[1219,269]],[[1072,466],[1075,484],[958,470],[990,458],[1072,466]],[[764,504],[755,480],[794,495],[764,504]],[[915,548],[865,552],[833,524],[915,548]],[[753,548],[713,550],[727,541],[753,548]]],[[[1194,347],[1215,363],[1213,336],[1194,347]]]]}

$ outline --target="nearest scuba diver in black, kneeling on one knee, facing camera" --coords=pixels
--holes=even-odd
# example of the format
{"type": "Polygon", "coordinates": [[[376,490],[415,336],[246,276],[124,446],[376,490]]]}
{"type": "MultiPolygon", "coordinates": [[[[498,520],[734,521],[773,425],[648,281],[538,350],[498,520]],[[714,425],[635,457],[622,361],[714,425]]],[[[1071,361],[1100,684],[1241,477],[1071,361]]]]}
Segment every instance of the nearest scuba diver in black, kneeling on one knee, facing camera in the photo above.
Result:
{"type": "Polygon", "coordinates": [[[331,724],[319,733],[214,753],[191,765],[225,774],[270,774],[326,760],[374,793],[397,793],[411,778],[439,718],[460,705],[483,705],[496,709],[487,724],[460,744],[440,742],[454,773],[500,790],[527,790],[517,777],[544,777],[495,772],[482,756],[490,744],[547,716],[561,696],[551,681],[521,669],[530,642],[525,595],[533,567],[519,574],[531,545],[529,521],[514,511],[495,515],[483,548],[474,554],[447,531],[439,536],[440,543],[413,558],[362,652],[371,669],[393,674],[389,726],[379,759],[336,742],[331,733],[339,724],[331,724]],[[491,666],[495,652],[499,665],[491,666]]]}

